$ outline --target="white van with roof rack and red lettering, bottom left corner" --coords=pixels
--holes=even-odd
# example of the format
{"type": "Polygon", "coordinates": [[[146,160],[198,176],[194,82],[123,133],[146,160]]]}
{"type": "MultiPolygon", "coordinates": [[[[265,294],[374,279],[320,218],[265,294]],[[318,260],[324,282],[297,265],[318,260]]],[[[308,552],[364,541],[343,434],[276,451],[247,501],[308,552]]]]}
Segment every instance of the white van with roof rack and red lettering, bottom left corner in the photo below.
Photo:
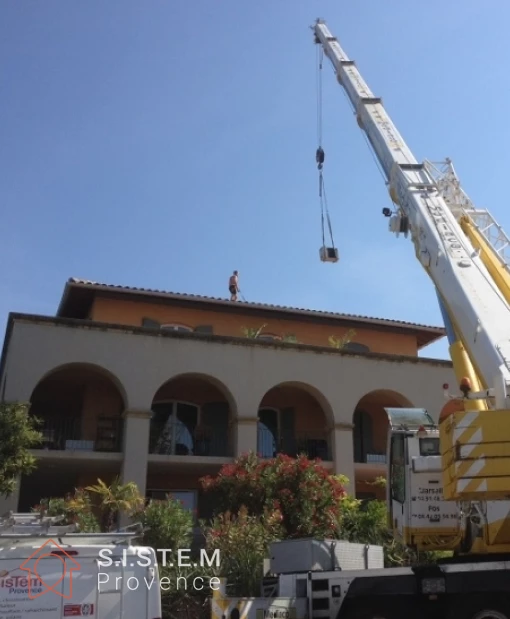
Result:
{"type": "Polygon", "coordinates": [[[0,618],[161,619],[156,553],[139,532],[76,533],[55,519],[0,521],[0,618]]]}

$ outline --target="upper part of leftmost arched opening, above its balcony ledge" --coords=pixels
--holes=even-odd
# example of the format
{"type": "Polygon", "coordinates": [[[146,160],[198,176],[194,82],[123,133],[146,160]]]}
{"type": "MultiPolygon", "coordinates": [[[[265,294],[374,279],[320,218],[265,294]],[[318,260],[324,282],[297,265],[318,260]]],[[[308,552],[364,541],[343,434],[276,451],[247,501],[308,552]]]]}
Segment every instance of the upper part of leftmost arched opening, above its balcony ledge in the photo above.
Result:
{"type": "Polygon", "coordinates": [[[30,403],[30,414],[42,421],[41,449],[122,451],[124,394],[102,368],[58,368],[39,382],[30,403]]]}

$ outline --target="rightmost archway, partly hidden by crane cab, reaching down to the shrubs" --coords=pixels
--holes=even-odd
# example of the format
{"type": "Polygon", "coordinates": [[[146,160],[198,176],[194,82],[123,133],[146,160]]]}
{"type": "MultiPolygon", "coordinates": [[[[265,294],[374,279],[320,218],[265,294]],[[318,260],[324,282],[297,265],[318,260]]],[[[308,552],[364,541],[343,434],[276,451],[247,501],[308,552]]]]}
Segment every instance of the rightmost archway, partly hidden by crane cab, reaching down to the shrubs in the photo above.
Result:
{"type": "Polygon", "coordinates": [[[367,393],[353,413],[353,448],[356,467],[356,496],[384,499],[385,491],[374,483],[386,477],[388,416],[385,408],[407,408],[412,403],[402,394],[388,389],[367,393]]]}

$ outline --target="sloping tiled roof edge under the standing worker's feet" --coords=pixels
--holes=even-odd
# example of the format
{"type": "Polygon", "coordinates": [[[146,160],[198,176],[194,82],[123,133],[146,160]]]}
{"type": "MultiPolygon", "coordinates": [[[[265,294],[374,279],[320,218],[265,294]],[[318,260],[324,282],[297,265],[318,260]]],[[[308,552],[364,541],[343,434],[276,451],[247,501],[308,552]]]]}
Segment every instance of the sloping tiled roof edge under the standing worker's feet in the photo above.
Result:
{"type": "MultiPolygon", "coordinates": [[[[198,301],[203,303],[214,303],[217,305],[225,305],[226,307],[232,308],[232,302],[225,298],[220,297],[208,297],[203,295],[196,294],[184,294],[180,292],[169,292],[166,290],[155,290],[151,288],[135,288],[132,286],[120,286],[116,284],[105,284],[102,282],[94,282],[86,279],[79,279],[75,277],[71,277],[68,280],[68,283],[71,285],[78,285],[84,287],[90,287],[94,289],[107,289],[111,291],[125,292],[125,293],[133,293],[140,295],[150,295],[150,296],[158,296],[165,297],[168,299],[182,299],[188,301],[198,301]]],[[[65,296],[65,295],[64,295],[65,296]]],[[[422,325],[413,322],[406,322],[403,320],[391,320],[389,318],[375,318],[370,316],[361,316],[356,314],[342,314],[338,312],[327,312],[323,310],[312,310],[305,309],[300,307],[289,307],[285,305],[272,305],[269,303],[254,303],[254,302],[246,302],[246,301],[238,301],[236,306],[239,307],[247,307],[252,309],[259,310],[271,310],[275,312],[286,312],[286,313],[295,313],[300,315],[307,316],[316,316],[317,318],[330,318],[330,319],[343,319],[343,320],[352,320],[357,322],[367,322],[372,325],[384,325],[387,327],[400,327],[406,329],[414,329],[417,331],[426,331],[429,333],[435,333],[438,337],[444,335],[445,330],[443,327],[434,327],[428,325],[422,325]]],[[[60,309],[60,308],[59,308],[60,309]]],[[[435,338],[432,338],[435,339],[435,338]]]]}

